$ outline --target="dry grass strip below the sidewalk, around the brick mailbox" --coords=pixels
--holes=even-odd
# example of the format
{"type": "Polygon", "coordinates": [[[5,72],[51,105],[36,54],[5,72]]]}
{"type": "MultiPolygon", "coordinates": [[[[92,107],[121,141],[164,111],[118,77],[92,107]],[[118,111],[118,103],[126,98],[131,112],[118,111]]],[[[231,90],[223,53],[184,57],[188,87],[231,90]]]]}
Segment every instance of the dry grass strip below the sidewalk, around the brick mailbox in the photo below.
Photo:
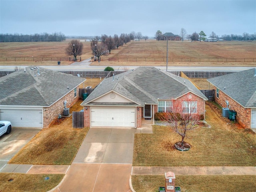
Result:
{"type": "MultiPolygon", "coordinates": [[[[133,175],[132,186],[136,192],[156,192],[165,186],[163,175],[133,175]]],[[[175,186],[182,192],[242,192],[255,191],[254,175],[178,175],[175,186]]]]}

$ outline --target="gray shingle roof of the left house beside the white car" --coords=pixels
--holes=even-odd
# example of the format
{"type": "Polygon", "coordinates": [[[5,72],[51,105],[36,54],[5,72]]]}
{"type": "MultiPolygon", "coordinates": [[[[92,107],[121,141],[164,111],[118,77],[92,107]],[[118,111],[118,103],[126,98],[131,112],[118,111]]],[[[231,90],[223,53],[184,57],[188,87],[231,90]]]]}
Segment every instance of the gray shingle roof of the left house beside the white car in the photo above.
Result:
{"type": "Polygon", "coordinates": [[[34,67],[0,78],[0,105],[51,106],[84,82],[82,78],[58,71],[30,69],[34,67]]]}

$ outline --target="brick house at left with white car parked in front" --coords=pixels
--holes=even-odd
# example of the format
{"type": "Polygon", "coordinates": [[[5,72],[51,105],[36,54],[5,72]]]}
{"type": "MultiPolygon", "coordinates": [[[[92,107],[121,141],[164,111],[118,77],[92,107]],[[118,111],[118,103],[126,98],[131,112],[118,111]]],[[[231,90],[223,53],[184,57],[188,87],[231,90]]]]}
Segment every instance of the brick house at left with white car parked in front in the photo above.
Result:
{"type": "Polygon", "coordinates": [[[48,128],[78,99],[83,78],[30,66],[0,78],[0,120],[48,128]]]}

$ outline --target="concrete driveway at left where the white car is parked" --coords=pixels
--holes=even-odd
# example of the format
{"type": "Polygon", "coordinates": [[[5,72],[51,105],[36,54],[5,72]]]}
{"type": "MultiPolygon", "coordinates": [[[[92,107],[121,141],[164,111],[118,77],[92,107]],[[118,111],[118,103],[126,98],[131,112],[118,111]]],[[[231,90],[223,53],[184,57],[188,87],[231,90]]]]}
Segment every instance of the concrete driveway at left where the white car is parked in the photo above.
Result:
{"type": "Polygon", "coordinates": [[[41,129],[13,128],[8,135],[0,136],[0,170],[25,146],[41,129]]]}

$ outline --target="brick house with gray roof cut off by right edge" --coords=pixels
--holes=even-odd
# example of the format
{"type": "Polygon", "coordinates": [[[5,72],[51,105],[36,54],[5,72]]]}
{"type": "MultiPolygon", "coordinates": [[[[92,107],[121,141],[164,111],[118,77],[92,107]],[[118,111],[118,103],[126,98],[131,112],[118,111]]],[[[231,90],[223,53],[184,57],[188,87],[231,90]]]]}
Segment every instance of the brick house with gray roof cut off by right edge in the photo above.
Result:
{"type": "Polygon", "coordinates": [[[214,85],[215,101],[235,110],[244,128],[256,128],[256,70],[249,69],[207,80],[214,85]]]}

